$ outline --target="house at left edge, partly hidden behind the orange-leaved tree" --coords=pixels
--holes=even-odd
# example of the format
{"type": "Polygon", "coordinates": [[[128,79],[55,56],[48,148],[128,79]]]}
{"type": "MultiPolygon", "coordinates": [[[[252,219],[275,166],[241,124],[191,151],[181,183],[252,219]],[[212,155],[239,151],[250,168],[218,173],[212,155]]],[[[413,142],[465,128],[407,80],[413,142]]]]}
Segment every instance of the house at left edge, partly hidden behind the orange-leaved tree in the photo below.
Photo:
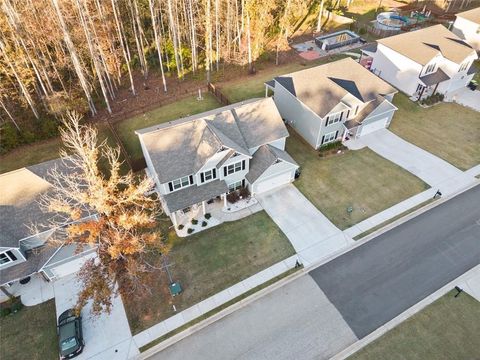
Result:
{"type": "Polygon", "coordinates": [[[0,174],[0,286],[40,273],[45,280],[77,271],[91,249],[77,253],[75,245],[63,246],[62,229],[49,229],[52,214],[38,201],[51,191],[49,169],[63,171],[61,160],[52,160],[0,174]],[[35,225],[42,230],[34,231],[35,225]]]}

